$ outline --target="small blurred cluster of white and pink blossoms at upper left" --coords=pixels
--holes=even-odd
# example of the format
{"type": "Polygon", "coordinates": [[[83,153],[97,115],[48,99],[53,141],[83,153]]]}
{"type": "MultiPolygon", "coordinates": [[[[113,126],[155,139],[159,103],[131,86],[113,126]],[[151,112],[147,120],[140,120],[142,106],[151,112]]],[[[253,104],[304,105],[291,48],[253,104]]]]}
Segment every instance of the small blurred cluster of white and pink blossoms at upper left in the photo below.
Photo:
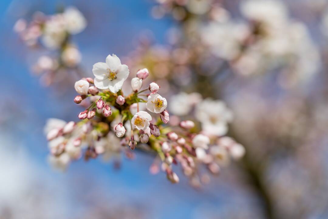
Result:
{"type": "Polygon", "coordinates": [[[83,14],[74,7],[68,7],[63,12],[53,15],[45,15],[38,11],[29,23],[19,19],[14,25],[14,31],[26,45],[33,48],[42,45],[56,54],[54,57],[40,56],[32,67],[33,72],[37,74],[45,73],[43,80],[48,85],[56,80],[56,73],[61,70],[80,71],[77,65],[81,61],[81,54],[71,43],[70,36],[82,32],[86,25],[83,14]]]}

